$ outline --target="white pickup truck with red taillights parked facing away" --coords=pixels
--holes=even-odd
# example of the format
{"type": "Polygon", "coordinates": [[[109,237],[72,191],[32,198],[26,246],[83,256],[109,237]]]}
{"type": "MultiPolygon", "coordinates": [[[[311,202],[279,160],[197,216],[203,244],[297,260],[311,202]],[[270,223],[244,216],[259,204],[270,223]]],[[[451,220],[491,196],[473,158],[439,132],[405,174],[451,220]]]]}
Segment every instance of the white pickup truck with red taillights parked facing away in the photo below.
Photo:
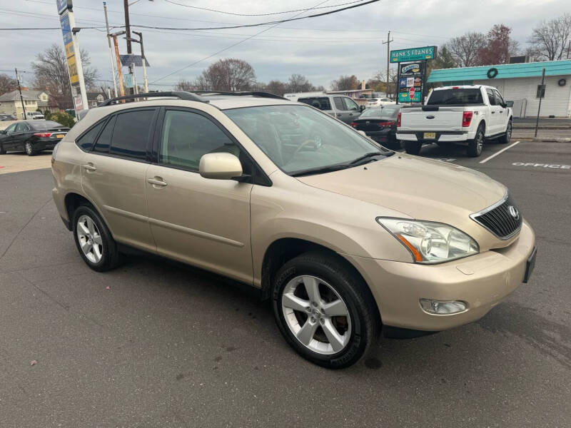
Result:
{"type": "Polygon", "coordinates": [[[418,155],[423,144],[468,143],[468,156],[480,156],[486,139],[508,143],[512,109],[492,86],[435,88],[422,107],[398,113],[397,139],[406,153],[418,155]]]}

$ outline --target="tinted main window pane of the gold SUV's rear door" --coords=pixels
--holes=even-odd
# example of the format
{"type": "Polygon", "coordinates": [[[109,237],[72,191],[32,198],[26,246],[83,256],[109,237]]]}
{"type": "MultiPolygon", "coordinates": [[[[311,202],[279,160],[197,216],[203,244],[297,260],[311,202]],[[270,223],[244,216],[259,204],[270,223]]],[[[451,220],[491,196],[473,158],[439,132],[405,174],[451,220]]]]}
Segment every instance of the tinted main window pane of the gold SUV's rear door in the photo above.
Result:
{"type": "Polygon", "coordinates": [[[111,138],[112,155],[145,159],[155,109],[119,113],[111,138]]]}

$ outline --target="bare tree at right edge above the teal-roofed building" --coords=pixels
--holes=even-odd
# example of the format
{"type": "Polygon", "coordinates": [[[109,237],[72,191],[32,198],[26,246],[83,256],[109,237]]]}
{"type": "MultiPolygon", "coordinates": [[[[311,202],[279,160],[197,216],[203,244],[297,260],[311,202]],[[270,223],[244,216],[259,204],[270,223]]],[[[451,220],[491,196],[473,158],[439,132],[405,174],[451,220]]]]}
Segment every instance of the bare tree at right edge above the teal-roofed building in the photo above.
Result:
{"type": "Polygon", "coordinates": [[[553,61],[565,59],[571,40],[571,14],[565,14],[550,21],[543,21],[533,29],[528,54],[535,58],[553,61]]]}

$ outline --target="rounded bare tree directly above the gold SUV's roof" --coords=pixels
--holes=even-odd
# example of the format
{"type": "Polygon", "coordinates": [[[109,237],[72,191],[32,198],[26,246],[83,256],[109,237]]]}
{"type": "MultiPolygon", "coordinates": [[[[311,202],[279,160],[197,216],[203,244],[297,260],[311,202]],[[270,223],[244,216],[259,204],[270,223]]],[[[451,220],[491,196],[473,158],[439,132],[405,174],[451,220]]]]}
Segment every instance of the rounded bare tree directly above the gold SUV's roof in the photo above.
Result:
{"type": "Polygon", "coordinates": [[[225,58],[208,66],[194,83],[203,91],[246,91],[255,82],[256,73],[249,63],[225,58]]]}

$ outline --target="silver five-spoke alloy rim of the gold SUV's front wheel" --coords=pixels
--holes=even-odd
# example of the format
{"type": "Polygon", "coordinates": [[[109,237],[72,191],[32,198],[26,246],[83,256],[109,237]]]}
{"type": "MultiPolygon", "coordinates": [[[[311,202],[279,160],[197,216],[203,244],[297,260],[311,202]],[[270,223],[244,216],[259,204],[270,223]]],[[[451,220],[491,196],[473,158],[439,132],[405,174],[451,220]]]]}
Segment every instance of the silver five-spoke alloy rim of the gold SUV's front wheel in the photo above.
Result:
{"type": "Polygon", "coordinates": [[[294,277],[284,287],[281,307],[290,332],[309,350],[331,355],[348,345],[348,307],[324,280],[310,275],[294,277]]]}

